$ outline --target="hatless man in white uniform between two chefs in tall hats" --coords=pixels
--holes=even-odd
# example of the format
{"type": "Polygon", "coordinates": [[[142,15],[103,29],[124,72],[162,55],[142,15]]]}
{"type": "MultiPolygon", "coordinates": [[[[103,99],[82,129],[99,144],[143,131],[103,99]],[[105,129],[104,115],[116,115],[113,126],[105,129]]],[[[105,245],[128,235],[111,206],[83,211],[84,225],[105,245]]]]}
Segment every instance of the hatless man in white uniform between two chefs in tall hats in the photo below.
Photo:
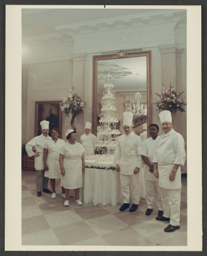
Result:
{"type": "Polygon", "coordinates": [[[152,163],[156,146],[158,143],[159,138],[159,126],[157,124],[150,124],[149,126],[150,136],[148,139],[144,140],[140,155],[142,156],[145,165],[144,165],[144,178],[145,178],[145,185],[146,185],[146,198],[147,198],[147,211],[145,215],[151,215],[153,211],[153,199],[154,199],[154,188],[158,190],[158,216],[163,215],[163,208],[162,208],[162,200],[159,193],[159,184],[158,178],[155,177],[154,171],[154,163],[152,163]]]}

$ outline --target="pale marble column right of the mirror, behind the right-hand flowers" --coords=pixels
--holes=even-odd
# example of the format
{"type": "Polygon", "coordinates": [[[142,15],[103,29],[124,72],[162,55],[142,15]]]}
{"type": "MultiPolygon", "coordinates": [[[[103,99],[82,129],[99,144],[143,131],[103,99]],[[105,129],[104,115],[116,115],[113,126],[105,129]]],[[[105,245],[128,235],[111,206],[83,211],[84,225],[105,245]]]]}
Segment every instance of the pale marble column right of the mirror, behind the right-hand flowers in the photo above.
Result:
{"type": "MultiPolygon", "coordinates": [[[[178,44],[159,45],[161,52],[162,86],[165,88],[176,84],[176,62],[175,51],[178,44]]],[[[177,114],[172,114],[173,128],[177,131],[177,114]]]]}

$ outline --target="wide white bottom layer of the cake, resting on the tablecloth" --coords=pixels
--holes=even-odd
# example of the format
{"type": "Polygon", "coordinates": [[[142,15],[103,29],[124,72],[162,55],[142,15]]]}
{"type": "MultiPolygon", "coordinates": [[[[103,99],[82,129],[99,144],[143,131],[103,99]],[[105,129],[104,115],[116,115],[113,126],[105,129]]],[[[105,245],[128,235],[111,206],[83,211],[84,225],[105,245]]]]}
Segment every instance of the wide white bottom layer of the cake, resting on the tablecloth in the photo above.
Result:
{"type": "Polygon", "coordinates": [[[115,167],[113,164],[113,155],[93,155],[85,156],[85,166],[87,167],[115,167]]]}

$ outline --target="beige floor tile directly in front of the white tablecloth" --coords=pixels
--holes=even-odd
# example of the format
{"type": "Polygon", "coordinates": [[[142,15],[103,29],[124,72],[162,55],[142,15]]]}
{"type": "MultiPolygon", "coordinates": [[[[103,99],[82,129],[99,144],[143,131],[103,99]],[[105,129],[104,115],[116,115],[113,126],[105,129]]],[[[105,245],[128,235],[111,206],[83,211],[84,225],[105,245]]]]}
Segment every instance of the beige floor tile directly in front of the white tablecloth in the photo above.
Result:
{"type": "Polygon", "coordinates": [[[81,206],[79,208],[74,208],[74,211],[78,213],[78,215],[81,216],[83,220],[88,220],[95,217],[101,217],[110,214],[108,211],[106,211],[99,205],[90,205],[88,207],[83,208],[81,206]]]}

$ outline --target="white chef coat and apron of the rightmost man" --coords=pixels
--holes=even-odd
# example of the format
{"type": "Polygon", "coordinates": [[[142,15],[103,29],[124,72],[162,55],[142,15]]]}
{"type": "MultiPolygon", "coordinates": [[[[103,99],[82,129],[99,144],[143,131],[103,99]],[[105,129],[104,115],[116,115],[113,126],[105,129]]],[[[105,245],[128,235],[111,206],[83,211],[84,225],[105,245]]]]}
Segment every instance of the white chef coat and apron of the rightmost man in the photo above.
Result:
{"type": "Polygon", "coordinates": [[[154,154],[154,163],[158,163],[159,186],[166,189],[181,189],[181,168],[177,170],[174,181],[169,175],[174,164],[184,165],[186,159],[185,142],[181,134],[171,129],[163,133],[159,139],[154,154]]]}

